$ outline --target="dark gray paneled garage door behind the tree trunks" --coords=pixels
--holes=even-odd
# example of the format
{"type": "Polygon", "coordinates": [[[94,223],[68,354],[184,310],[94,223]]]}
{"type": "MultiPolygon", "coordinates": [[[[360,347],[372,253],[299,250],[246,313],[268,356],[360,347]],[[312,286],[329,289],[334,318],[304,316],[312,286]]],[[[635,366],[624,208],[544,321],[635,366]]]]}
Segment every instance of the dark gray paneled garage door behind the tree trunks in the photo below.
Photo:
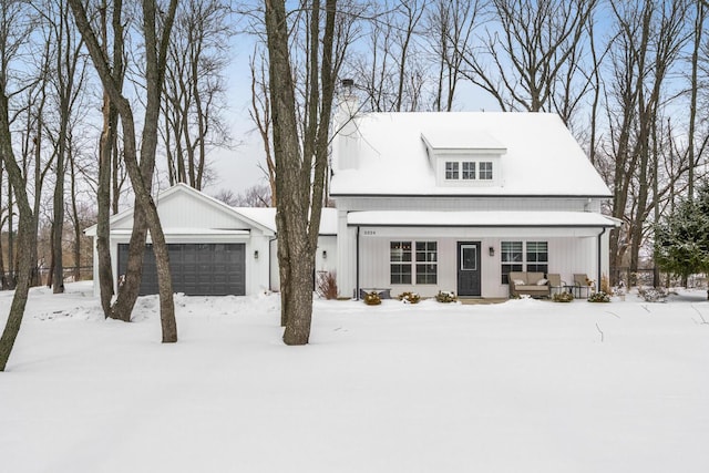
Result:
{"type": "MultiPolygon", "coordinates": [[[[173,290],[189,296],[244,296],[246,263],[244,244],[169,244],[173,290]]],[[[119,245],[119,275],[125,273],[129,245],[119,245]]],[[[143,260],[141,295],[157,294],[157,270],[151,245],[143,260]]]]}

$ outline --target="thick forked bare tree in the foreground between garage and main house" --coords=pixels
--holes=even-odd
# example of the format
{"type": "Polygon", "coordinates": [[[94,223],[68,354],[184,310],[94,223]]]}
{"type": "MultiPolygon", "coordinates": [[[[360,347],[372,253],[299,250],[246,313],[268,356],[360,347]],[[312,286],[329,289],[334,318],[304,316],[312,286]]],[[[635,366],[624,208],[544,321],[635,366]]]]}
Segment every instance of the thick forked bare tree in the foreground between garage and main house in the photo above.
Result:
{"type": "Polygon", "coordinates": [[[305,345],[310,337],[315,251],[325,199],[328,134],[337,78],[333,60],[337,1],[326,1],[325,19],[319,0],[306,2],[304,7],[302,20],[308,33],[304,45],[308,60],[301,135],[290,52],[291,23],[284,0],[265,3],[276,187],[280,195],[276,226],[286,345],[305,345]]]}

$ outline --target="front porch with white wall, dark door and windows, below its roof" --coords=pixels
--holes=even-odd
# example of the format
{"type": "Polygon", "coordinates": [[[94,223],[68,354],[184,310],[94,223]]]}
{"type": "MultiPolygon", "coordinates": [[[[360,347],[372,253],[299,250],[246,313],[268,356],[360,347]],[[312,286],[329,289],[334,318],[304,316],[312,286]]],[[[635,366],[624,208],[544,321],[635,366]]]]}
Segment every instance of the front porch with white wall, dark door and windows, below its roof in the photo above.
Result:
{"type": "Polygon", "coordinates": [[[485,304],[508,299],[511,271],[557,274],[566,281],[577,273],[596,281],[607,275],[605,227],[362,226],[353,230],[354,278],[349,290],[347,279],[338,278],[341,294],[387,287],[392,297],[413,291],[429,298],[452,291],[469,304],[485,304]]]}

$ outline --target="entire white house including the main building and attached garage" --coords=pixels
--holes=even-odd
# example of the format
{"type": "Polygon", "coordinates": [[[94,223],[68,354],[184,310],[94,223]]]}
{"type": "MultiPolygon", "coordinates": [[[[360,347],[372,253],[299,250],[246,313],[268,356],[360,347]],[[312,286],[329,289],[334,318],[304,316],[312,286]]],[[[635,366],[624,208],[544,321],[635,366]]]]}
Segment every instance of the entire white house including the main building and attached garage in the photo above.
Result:
{"type": "MultiPolygon", "coordinates": [[[[511,271],[568,282],[585,274],[596,284],[608,274],[616,223],[600,210],[610,192],[557,115],[354,110],[346,97],[338,112],[337,208],[323,209],[316,255],[340,296],[376,288],[499,298],[511,271]]],[[[184,184],[156,204],[175,291],[278,290],[275,209],[234,208],[184,184]]],[[[111,219],[114,280],[132,225],[132,209],[111,219]]],[[[156,292],[152,251],[143,271],[142,294],[156,292]]],[[[97,294],[95,263],[94,281],[97,294]]]]}

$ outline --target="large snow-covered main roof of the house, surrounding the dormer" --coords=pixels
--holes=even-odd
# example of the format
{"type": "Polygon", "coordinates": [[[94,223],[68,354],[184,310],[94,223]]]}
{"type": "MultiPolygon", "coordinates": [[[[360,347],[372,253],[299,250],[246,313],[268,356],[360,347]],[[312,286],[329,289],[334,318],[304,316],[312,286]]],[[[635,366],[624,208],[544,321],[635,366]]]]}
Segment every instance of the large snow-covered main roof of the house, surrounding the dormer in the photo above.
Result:
{"type": "Polygon", "coordinates": [[[350,126],[357,130],[354,134],[335,136],[330,185],[333,197],[610,196],[608,186],[556,114],[369,113],[354,117],[350,126]],[[506,150],[500,158],[500,185],[436,186],[422,135],[440,148],[506,150]],[[339,165],[351,156],[356,156],[354,166],[339,165]]]}

